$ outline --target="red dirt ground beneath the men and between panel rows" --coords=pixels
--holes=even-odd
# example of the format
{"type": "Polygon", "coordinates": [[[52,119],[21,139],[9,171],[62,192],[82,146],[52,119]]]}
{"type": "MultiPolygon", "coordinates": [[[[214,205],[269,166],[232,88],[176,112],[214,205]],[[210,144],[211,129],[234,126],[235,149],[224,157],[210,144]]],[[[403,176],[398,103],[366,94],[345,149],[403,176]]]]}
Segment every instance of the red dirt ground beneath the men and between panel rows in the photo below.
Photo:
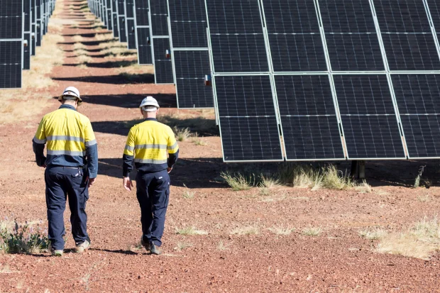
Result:
{"type": "MultiPolygon", "coordinates": [[[[122,187],[121,157],[128,133],[124,121],[141,118],[137,106],[147,94],[163,105],[160,114],[199,111],[177,110],[174,87],[155,85],[148,74],[143,75],[145,83],[119,76],[124,70],[119,68],[121,63],[100,56],[99,43],[106,40],[94,38],[95,33],[106,31],[92,28],[94,24],[82,16],[88,13],[68,11],[70,5],[79,9],[83,3],[65,1],[65,11],[56,16],[75,18],[80,28],[65,25],[62,30],[65,64],[50,74],[56,84],[50,92],[57,96],[67,86],[79,88],[86,101],[79,111],[92,121],[99,143],[99,177],[87,205],[92,249],[84,255],[71,253],[74,243],[69,235],[62,258],[48,253],[0,255],[0,292],[440,292],[438,253],[429,260],[378,254],[373,252],[377,242],[358,236],[361,228],[399,231],[436,214],[440,192],[439,166],[434,162],[427,163],[429,189],[408,187],[420,162],[369,162],[372,193],[283,187],[264,197],[257,188],[231,191],[219,181],[219,174],[273,169],[276,164],[226,165],[218,135],[204,138],[208,145],[182,142],[181,159],[171,173],[165,254],[152,256],[134,248],[141,223],[135,193],[122,187]],[[72,66],[78,63],[73,36],[82,34],[93,57],[87,68],[72,66]],[[187,189],[195,192],[194,198],[183,197],[187,189]],[[427,194],[431,201],[417,199],[427,194]],[[269,228],[279,224],[296,230],[277,236],[269,228]],[[260,233],[231,235],[234,228],[248,225],[260,233]],[[302,235],[302,228],[309,225],[324,232],[317,237],[302,235]],[[208,234],[175,233],[175,227],[183,226],[208,234]],[[179,250],[178,243],[189,246],[179,250]]],[[[58,106],[54,99],[44,113],[58,106]]],[[[28,123],[0,126],[1,217],[45,221],[43,170],[35,165],[31,145],[42,115],[28,123]]],[[[348,167],[347,163],[339,166],[348,167]]],[[[67,211],[67,229],[69,215],[67,211]]]]}

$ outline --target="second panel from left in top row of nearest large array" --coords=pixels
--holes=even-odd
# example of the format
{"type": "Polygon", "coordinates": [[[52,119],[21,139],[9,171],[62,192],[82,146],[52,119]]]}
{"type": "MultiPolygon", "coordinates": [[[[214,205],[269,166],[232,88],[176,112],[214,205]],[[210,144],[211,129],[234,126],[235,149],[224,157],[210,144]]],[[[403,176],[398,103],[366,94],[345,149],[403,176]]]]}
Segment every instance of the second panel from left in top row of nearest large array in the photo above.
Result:
{"type": "Polygon", "coordinates": [[[327,71],[314,1],[263,0],[275,72],[327,71]]]}

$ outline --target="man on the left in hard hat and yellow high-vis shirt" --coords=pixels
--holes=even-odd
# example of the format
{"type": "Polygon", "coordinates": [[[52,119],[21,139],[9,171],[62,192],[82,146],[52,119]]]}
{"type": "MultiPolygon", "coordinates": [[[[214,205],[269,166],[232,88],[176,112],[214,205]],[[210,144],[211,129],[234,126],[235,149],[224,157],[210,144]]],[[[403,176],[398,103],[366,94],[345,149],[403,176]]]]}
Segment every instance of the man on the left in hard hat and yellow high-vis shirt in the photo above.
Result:
{"type": "Polygon", "coordinates": [[[78,89],[67,87],[58,101],[60,108],[41,120],[33,138],[33,151],[37,165],[45,168],[50,252],[62,256],[67,195],[75,251],[83,253],[90,246],[85,208],[89,187],[96,182],[98,149],[89,118],[77,112],[82,103],[78,89]],[[47,157],[43,152],[45,143],[47,157]]]}

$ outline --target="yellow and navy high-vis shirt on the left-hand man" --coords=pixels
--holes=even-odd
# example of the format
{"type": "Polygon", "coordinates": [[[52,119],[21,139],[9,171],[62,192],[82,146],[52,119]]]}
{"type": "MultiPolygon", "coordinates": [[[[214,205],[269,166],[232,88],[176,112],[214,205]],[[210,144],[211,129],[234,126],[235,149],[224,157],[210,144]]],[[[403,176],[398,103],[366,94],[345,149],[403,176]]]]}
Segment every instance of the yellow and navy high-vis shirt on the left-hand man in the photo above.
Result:
{"type": "Polygon", "coordinates": [[[92,124],[74,106],[62,105],[41,119],[33,151],[38,166],[88,167],[89,177],[97,177],[98,146],[92,124]]]}

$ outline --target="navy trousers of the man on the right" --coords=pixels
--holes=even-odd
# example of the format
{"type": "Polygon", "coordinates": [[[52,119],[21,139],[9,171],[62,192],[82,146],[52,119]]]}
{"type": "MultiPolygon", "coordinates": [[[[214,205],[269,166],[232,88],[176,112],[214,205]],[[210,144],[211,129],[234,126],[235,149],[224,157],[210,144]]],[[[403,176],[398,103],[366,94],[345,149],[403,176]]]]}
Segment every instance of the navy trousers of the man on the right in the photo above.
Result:
{"type": "Polygon", "coordinates": [[[141,206],[143,241],[162,245],[160,239],[165,228],[165,214],[170,197],[170,175],[167,170],[155,173],[138,171],[136,196],[141,206]]]}

